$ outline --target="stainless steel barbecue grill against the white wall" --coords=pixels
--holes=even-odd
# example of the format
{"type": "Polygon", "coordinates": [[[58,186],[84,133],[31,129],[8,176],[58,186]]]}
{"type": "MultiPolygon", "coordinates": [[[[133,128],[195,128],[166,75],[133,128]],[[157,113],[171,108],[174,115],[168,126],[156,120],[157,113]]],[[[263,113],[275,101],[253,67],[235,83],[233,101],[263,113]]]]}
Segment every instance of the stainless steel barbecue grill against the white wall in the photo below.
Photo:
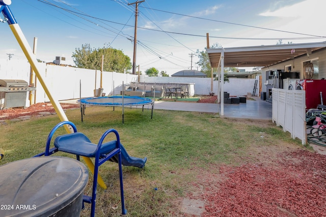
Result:
{"type": "Polygon", "coordinates": [[[0,79],[0,109],[26,107],[28,91],[36,90],[24,80],[0,79]],[[1,107],[3,105],[3,107],[1,107]]]}

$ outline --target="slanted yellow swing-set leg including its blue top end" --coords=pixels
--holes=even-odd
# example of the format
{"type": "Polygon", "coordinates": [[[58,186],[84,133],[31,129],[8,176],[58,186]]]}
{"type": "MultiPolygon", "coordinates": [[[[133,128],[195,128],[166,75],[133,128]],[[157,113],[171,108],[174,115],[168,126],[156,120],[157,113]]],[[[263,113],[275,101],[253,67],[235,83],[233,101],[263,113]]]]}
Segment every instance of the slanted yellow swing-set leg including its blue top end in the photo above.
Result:
{"type": "MultiPolygon", "coordinates": [[[[2,2],[0,2],[2,3],[2,2]]],[[[65,114],[65,112],[63,111],[63,108],[61,107],[59,101],[56,101],[50,91],[48,90],[47,86],[45,85],[45,82],[38,70],[38,68],[36,67],[37,65],[37,59],[36,56],[33,54],[33,51],[28,43],[28,41],[26,40],[24,34],[22,33],[19,24],[17,23],[15,17],[13,16],[9,6],[7,5],[3,5],[0,4],[0,12],[3,13],[3,15],[8,18],[7,23],[9,24],[9,27],[12,31],[12,33],[14,34],[18,44],[20,45],[22,51],[24,52],[25,57],[28,59],[29,63],[31,64],[37,78],[39,79],[39,82],[41,83],[45,93],[47,94],[47,96],[50,99],[51,104],[53,105],[53,107],[55,108],[55,111],[57,112],[59,118],[61,121],[68,121],[68,118],[65,114]]],[[[67,124],[64,125],[66,131],[68,133],[72,133],[73,129],[69,126],[67,126],[67,124]]],[[[92,160],[89,157],[84,157],[84,160],[87,164],[87,166],[90,168],[90,170],[94,173],[94,164],[92,162],[92,160]]],[[[98,184],[103,187],[104,189],[106,189],[106,185],[104,183],[104,181],[102,180],[102,178],[100,177],[100,175],[98,175],[98,184]]]]}

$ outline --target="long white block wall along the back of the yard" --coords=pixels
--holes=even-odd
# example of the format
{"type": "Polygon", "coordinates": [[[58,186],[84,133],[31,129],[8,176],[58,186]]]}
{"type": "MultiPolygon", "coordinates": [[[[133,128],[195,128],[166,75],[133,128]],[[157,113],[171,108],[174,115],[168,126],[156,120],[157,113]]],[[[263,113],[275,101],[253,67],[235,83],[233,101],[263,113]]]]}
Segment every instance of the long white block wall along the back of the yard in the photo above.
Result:
{"type": "MultiPolygon", "coordinates": [[[[51,95],[56,100],[77,99],[91,97],[94,89],[100,87],[100,71],[90,69],[80,69],[75,67],[64,67],[37,63],[41,74],[51,95]],[[80,84],[82,91],[80,93],[80,84]]],[[[30,64],[25,61],[10,60],[0,62],[0,79],[22,79],[26,82],[30,80],[30,64]]],[[[122,84],[138,80],[138,75],[123,74],[116,72],[102,73],[102,88],[105,95],[120,94],[122,84]]],[[[211,78],[205,77],[148,77],[141,75],[140,82],[147,83],[192,83],[196,95],[208,95],[211,90],[211,78]]],[[[37,81],[36,103],[49,101],[44,89],[37,81]]],[[[218,93],[218,82],[213,81],[213,92],[218,93]]],[[[244,96],[253,92],[255,79],[249,78],[230,78],[229,83],[224,84],[224,91],[231,96],[244,96]]],[[[2,101],[0,100],[0,103],[2,101]]],[[[29,102],[27,102],[29,104],[29,102]]]]}

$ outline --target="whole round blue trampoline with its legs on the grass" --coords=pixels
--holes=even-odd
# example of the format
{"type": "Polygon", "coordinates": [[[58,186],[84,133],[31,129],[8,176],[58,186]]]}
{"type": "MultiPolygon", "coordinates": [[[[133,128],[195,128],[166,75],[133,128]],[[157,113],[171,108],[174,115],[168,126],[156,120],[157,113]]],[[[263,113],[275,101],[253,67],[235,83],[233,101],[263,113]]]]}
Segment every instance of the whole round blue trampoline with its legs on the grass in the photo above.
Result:
{"type": "Polygon", "coordinates": [[[154,107],[154,100],[139,97],[139,96],[102,96],[102,97],[89,97],[84,99],[77,100],[80,104],[80,112],[82,113],[82,122],[83,122],[83,115],[85,115],[85,106],[86,105],[93,105],[93,106],[120,106],[122,107],[122,123],[124,122],[124,106],[143,106],[151,104],[152,105],[152,114],[151,119],[153,118],[153,107],[154,107]]]}

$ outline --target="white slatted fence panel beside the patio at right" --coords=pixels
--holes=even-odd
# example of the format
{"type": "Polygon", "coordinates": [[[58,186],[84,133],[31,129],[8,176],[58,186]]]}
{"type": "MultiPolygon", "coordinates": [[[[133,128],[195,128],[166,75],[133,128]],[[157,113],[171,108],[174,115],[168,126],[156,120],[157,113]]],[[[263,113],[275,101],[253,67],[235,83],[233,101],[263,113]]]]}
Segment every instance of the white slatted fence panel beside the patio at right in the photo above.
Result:
{"type": "Polygon", "coordinates": [[[303,90],[272,89],[273,122],[306,144],[306,92],[303,90]]]}

